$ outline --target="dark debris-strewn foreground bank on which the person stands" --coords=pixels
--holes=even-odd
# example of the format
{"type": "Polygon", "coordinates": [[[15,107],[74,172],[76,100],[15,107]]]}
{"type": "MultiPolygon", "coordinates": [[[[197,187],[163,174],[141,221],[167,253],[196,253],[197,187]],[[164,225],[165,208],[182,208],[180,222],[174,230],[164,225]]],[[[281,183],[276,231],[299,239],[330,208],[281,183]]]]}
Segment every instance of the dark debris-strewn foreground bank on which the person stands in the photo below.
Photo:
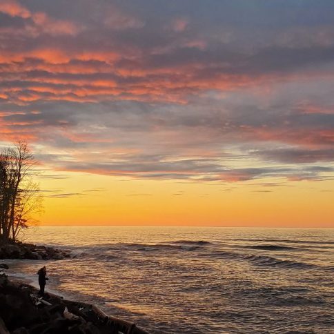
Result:
{"type": "Polygon", "coordinates": [[[80,333],[87,334],[148,334],[136,324],[106,315],[95,304],[65,299],[50,291],[41,298],[38,296],[38,288],[32,286],[32,282],[28,279],[8,277],[6,273],[0,273],[1,299],[7,302],[3,303],[4,308],[0,306],[1,333],[77,333],[76,330],[79,329],[80,333]],[[23,309],[22,304],[24,304],[23,309]],[[17,305],[20,307],[16,307],[17,305]],[[53,311],[57,312],[53,314],[53,311]],[[27,321],[26,313],[35,313],[35,316],[27,321]],[[41,317],[45,320],[46,313],[48,321],[40,323],[37,318],[41,317]],[[56,328],[59,322],[63,325],[61,332],[56,328]],[[19,326],[22,324],[26,326],[19,326]],[[41,328],[36,332],[38,326],[41,328]]]}

